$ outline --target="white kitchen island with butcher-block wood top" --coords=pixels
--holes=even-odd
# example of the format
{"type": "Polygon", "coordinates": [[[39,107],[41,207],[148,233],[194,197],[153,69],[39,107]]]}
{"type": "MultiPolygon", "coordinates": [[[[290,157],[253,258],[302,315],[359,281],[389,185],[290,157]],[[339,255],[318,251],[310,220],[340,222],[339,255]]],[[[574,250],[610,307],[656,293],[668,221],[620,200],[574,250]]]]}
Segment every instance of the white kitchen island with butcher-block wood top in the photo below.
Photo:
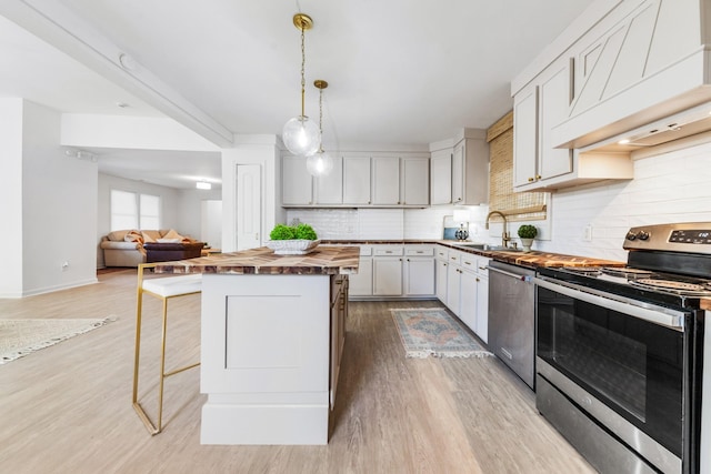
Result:
{"type": "Polygon", "coordinates": [[[162,262],[202,273],[202,444],[327,444],[356,246],[162,262]]]}

